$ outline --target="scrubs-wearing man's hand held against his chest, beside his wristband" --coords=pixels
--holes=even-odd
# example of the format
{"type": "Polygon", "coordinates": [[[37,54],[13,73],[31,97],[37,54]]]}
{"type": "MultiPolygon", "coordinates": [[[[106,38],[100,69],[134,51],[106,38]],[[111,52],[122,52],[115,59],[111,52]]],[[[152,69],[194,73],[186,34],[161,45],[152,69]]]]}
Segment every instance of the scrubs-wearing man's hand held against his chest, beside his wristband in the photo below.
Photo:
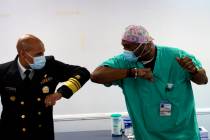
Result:
{"type": "Polygon", "coordinates": [[[137,69],[138,77],[141,77],[143,79],[153,81],[153,74],[150,68],[145,68],[145,69],[137,69]]]}

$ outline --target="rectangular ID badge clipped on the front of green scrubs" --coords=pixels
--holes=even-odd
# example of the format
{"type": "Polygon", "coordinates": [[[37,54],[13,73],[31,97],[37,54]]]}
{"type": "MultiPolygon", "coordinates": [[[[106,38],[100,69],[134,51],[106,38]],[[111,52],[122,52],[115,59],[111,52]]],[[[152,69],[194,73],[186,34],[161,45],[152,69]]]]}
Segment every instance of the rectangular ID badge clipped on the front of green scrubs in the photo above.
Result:
{"type": "Polygon", "coordinates": [[[160,116],[171,116],[171,104],[168,101],[160,102],[160,116]]]}

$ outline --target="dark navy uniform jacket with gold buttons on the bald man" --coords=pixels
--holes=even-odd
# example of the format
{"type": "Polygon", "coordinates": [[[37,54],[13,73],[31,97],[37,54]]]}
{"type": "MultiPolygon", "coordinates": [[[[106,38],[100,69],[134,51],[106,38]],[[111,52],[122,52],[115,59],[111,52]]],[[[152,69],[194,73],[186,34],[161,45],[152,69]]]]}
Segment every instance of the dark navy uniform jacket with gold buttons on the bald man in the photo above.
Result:
{"type": "MultiPolygon", "coordinates": [[[[35,70],[30,82],[22,80],[17,58],[0,65],[0,95],[2,114],[1,140],[54,140],[53,107],[45,107],[44,99],[55,92],[59,82],[76,77],[80,85],[90,78],[89,71],[80,66],[64,64],[46,56],[46,65],[35,70]]],[[[58,91],[65,98],[73,92],[65,85],[58,91]]]]}

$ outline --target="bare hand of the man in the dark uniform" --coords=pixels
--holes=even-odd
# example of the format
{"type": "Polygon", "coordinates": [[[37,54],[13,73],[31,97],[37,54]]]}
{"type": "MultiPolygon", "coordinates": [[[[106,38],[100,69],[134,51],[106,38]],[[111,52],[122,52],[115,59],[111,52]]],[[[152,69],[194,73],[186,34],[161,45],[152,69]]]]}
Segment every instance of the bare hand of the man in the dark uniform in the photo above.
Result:
{"type": "Polygon", "coordinates": [[[61,93],[53,93],[53,94],[50,94],[50,95],[47,95],[46,98],[45,98],[45,106],[48,107],[48,106],[53,106],[56,104],[56,101],[57,100],[60,100],[62,97],[61,93]]]}

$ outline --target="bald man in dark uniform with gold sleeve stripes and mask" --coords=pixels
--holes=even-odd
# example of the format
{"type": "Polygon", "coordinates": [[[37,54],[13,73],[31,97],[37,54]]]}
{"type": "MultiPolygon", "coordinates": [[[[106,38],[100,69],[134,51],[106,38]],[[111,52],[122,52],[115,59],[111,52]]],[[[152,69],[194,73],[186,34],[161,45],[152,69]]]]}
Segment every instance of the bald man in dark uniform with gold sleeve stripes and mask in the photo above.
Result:
{"type": "Polygon", "coordinates": [[[44,51],[39,38],[26,34],[17,42],[15,60],[0,65],[1,140],[54,140],[53,105],[89,80],[86,68],[44,56],[44,51]]]}

